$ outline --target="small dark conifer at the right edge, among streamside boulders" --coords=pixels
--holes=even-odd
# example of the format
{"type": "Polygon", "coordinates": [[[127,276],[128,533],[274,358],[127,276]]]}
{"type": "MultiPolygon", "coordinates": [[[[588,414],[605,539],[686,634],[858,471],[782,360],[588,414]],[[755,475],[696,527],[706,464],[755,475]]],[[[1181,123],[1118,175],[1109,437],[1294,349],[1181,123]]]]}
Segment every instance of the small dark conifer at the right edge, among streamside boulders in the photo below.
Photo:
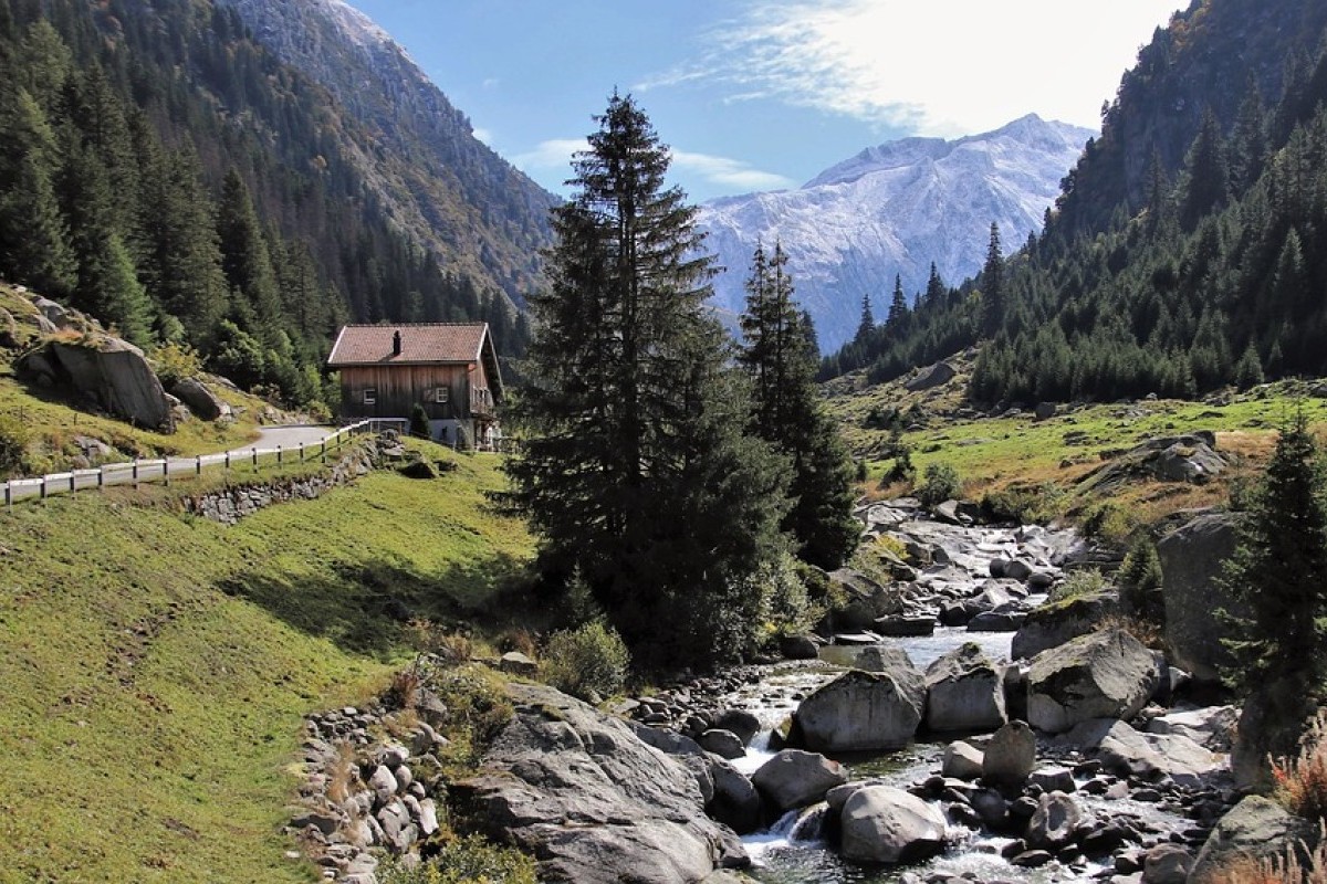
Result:
{"type": "Polygon", "coordinates": [[[1227,640],[1245,689],[1327,675],[1327,476],[1303,411],[1282,428],[1225,583],[1247,611],[1227,640]]]}

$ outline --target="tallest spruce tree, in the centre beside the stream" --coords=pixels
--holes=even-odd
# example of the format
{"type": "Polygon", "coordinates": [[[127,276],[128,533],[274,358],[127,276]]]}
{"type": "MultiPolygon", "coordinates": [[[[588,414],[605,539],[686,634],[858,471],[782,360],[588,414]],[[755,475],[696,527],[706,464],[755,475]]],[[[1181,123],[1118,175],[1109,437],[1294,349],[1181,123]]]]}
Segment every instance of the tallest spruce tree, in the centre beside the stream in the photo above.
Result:
{"type": "Polygon", "coordinates": [[[750,394],[705,309],[711,258],[665,186],[666,147],[630,97],[596,119],[553,212],[549,289],[531,298],[510,500],[638,664],[703,667],[752,648],[784,472],[743,432],[750,394]]]}

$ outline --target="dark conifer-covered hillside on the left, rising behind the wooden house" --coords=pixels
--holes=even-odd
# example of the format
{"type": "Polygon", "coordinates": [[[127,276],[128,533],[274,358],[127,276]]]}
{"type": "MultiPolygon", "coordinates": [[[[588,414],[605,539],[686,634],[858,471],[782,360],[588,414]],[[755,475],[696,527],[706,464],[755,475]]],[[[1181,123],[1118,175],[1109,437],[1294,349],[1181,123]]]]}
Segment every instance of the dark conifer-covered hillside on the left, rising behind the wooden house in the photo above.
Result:
{"type": "Polygon", "coordinates": [[[491,220],[523,245],[482,254],[401,223],[365,164],[390,151],[231,8],[0,0],[0,277],[135,343],[191,346],[299,404],[324,396],[346,321],[483,318],[520,347],[508,294],[532,278],[539,207],[484,207],[515,213],[491,220]]]}

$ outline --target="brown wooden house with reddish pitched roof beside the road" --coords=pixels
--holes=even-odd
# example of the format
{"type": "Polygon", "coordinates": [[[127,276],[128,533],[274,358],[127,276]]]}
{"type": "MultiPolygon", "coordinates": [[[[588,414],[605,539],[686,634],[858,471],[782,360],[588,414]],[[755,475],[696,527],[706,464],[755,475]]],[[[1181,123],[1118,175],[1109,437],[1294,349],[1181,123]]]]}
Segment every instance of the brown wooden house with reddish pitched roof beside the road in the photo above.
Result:
{"type": "Polygon", "coordinates": [[[503,386],[486,322],[349,325],[328,368],[341,372],[345,417],[410,417],[418,404],[438,441],[498,441],[503,386]]]}

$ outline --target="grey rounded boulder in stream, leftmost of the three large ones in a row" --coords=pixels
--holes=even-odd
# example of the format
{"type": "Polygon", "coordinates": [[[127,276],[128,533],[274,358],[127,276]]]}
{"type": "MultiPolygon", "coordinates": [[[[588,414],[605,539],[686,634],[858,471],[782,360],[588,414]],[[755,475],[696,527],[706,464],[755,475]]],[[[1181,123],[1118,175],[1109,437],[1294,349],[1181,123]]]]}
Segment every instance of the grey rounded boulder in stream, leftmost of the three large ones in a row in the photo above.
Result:
{"type": "Polygon", "coordinates": [[[912,667],[853,669],[803,700],[792,720],[807,749],[877,751],[906,746],[925,705],[926,685],[912,667]]]}

